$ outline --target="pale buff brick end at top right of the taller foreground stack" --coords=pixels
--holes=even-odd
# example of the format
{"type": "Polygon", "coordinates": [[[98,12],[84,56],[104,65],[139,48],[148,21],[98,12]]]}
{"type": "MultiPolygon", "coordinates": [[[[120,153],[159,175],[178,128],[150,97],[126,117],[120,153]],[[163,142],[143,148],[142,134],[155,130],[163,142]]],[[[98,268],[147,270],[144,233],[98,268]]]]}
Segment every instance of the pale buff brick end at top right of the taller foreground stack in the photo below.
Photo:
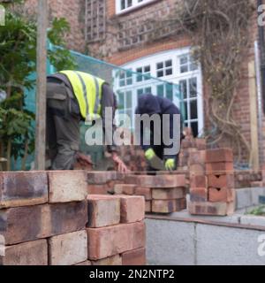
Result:
{"type": "Polygon", "coordinates": [[[79,202],[87,198],[87,172],[48,172],[49,203],[79,202]]]}

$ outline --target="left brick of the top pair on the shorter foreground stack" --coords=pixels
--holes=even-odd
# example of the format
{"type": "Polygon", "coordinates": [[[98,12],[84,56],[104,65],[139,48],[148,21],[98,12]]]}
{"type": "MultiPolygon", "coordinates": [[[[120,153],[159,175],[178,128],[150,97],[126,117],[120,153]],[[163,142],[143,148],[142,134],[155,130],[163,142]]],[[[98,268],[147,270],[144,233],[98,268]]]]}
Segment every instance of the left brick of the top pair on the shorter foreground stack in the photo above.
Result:
{"type": "Polygon", "coordinates": [[[88,195],[88,227],[116,225],[120,222],[120,199],[108,195],[88,195]]]}

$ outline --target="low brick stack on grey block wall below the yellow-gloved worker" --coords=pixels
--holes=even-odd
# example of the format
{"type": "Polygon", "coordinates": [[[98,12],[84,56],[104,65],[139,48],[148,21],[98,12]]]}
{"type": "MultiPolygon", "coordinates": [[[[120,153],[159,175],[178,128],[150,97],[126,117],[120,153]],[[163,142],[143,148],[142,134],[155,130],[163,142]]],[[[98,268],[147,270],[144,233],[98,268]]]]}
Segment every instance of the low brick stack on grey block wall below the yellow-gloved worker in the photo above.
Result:
{"type": "Polygon", "coordinates": [[[142,195],[146,212],[171,213],[186,209],[186,176],[174,174],[128,175],[114,187],[117,195],[142,195]]]}

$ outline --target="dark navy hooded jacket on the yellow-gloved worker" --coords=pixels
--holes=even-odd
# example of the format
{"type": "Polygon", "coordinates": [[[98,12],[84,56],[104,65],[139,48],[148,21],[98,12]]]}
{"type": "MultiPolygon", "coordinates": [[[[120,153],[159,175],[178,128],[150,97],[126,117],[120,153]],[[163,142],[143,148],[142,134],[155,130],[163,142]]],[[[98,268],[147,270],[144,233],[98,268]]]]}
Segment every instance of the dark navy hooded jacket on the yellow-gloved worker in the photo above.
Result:
{"type": "MultiPolygon", "coordinates": [[[[138,107],[136,108],[135,114],[148,114],[148,115],[153,115],[153,114],[159,114],[161,116],[161,119],[163,117],[163,114],[169,114],[170,115],[170,126],[169,126],[169,133],[170,133],[170,138],[173,137],[173,115],[174,114],[180,114],[180,111],[178,110],[178,107],[172,103],[169,99],[167,98],[162,98],[159,96],[153,96],[151,94],[146,94],[142,95],[138,99],[138,107]]],[[[162,126],[162,131],[163,131],[163,126],[162,126]]],[[[182,119],[181,119],[181,128],[180,128],[180,137],[183,139],[183,134],[182,134],[182,119]]],[[[143,150],[148,150],[150,148],[156,149],[155,151],[161,151],[159,150],[159,147],[155,146],[154,144],[154,125],[153,123],[151,124],[150,127],[150,145],[144,145],[143,144],[143,135],[144,135],[145,129],[143,128],[143,125],[141,124],[140,127],[140,145],[143,150]]],[[[160,136],[161,139],[161,146],[160,148],[171,148],[171,146],[163,144],[163,139],[162,139],[162,134],[160,136]]],[[[161,157],[161,156],[160,156],[161,157]]],[[[169,157],[175,157],[175,156],[169,156],[169,157]]],[[[169,158],[168,157],[168,158],[169,158]]]]}

